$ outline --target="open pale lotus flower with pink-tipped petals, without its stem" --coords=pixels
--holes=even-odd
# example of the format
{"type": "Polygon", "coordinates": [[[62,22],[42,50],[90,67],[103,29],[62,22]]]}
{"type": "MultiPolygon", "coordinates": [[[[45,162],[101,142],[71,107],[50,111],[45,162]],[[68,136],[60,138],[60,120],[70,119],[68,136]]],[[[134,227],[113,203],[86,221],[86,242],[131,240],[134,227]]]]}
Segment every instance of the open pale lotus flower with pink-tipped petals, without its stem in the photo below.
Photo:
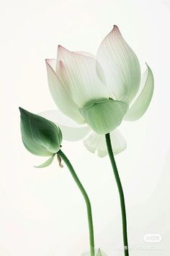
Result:
{"type": "MultiPolygon", "coordinates": [[[[140,82],[140,64],[117,26],[99,46],[97,55],[68,51],[58,46],[57,59],[46,60],[50,93],[63,113],[65,140],[84,140],[91,152],[107,155],[104,136],[110,132],[114,153],[126,148],[117,129],[122,121],[135,121],[146,112],[153,95],[153,73],[147,65],[140,82]],[[138,93],[141,87],[141,92],[138,93]],[[66,116],[68,118],[66,118],[66,116]],[[72,121],[72,127],[66,124],[72,121]]],[[[56,122],[59,111],[42,116],[56,122]]],[[[62,120],[63,120],[62,119],[62,120]]]]}

